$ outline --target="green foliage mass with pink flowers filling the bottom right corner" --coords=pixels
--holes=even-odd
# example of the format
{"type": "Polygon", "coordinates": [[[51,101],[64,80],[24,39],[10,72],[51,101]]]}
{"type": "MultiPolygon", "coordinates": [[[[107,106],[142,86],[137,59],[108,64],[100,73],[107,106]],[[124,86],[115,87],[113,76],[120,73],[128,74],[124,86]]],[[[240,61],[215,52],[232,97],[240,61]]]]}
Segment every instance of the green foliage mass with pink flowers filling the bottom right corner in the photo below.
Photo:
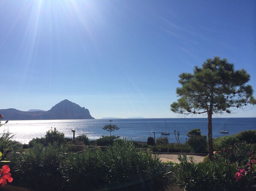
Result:
{"type": "Polygon", "coordinates": [[[195,164],[179,156],[180,164],[171,166],[175,182],[185,191],[255,191],[255,145],[239,143],[195,164]]]}

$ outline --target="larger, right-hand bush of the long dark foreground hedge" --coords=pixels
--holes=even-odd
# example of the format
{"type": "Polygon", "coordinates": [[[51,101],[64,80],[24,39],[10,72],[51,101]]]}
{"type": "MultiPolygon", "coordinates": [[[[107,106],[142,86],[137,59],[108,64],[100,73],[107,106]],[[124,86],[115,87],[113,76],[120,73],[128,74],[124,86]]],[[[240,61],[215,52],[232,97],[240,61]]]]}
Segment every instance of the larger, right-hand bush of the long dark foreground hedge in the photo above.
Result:
{"type": "Polygon", "coordinates": [[[62,172],[69,190],[155,191],[168,183],[160,159],[125,140],[114,142],[104,152],[70,153],[62,172]]]}

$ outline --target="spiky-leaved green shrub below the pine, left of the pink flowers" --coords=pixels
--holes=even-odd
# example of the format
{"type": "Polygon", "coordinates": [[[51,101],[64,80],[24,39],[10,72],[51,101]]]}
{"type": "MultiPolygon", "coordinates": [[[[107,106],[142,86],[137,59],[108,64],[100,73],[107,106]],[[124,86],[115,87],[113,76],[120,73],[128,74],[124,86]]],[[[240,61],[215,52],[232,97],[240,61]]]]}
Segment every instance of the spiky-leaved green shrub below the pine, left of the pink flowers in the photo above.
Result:
{"type": "MultiPolygon", "coordinates": [[[[185,191],[237,191],[234,178],[238,163],[219,157],[216,161],[193,162],[186,156],[179,156],[180,163],[171,167],[175,182],[185,191]]],[[[238,189],[239,188],[239,189],[238,189]]]]}

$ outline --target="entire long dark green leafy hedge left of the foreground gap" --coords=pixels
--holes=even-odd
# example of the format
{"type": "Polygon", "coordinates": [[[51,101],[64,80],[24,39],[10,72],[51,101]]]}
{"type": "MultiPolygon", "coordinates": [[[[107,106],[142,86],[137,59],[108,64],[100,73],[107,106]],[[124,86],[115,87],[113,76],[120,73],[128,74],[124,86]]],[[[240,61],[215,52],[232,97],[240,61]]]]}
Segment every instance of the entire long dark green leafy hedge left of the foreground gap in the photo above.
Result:
{"type": "Polygon", "coordinates": [[[160,159],[126,140],[80,154],[57,143],[36,144],[11,161],[14,183],[36,191],[155,191],[169,183],[160,159]]]}

